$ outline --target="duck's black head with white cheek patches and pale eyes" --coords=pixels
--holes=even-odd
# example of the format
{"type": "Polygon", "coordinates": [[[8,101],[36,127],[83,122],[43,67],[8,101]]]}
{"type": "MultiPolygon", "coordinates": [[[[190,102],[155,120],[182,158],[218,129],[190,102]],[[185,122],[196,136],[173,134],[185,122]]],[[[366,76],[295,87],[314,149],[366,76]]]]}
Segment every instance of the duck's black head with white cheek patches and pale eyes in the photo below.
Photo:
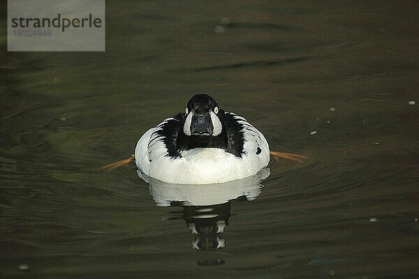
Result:
{"type": "Polygon", "coordinates": [[[186,105],[184,134],[198,137],[215,137],[221,134],[219,105],[207,94],[196,94],[186,105]]]}

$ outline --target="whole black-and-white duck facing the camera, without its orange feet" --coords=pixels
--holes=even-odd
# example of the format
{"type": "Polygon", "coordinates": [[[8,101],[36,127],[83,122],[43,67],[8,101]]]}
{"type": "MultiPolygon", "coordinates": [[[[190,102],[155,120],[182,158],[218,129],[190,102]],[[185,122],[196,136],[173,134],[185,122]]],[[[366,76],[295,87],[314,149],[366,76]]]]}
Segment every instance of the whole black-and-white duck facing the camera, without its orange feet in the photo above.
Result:
{"type": "Polygon", "coordinates": [[[147,130],[135,147],[141,172],[179,184],[242,179],[269,160],[263,134],[242,116],[221,110],[207,94],[193,96],[184,113],[147,130]]]}

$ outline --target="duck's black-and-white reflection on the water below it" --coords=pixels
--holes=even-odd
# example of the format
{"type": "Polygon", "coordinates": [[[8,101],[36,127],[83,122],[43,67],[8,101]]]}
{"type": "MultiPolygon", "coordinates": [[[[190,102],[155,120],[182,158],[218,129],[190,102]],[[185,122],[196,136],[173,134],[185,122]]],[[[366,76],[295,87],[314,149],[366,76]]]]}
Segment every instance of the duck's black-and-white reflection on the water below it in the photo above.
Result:
{"type": "Polygon", "coordinates": [[[183,206],[182,219],[196,234],[192,246],[196,250],[223,248],[226,241],[221,234],[230,218],[230,201],[243,198],[256,199],[260,194],[263,179],[270,171],[263,168],[257,174],[245,179],[218,184],[174,184],[146,176],[139,176],[149,183],[149,190],[157,206],[183,206]]]}

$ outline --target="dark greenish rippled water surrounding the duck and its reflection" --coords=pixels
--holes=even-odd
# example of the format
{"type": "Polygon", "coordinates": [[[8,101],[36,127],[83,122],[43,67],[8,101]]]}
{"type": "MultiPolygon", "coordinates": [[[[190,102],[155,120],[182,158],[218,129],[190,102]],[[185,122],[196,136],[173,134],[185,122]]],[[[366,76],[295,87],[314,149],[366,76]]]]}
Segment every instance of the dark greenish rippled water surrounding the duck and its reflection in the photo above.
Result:
{"type": "Polygon", "coordinates": [[[0,278],[418,278],[418,8],[107,1],[106,52],[18,53],[2,2],[0,278]],[[198,251],[190,208],[97,168],[204,91],[309,158],[198,251]]]}

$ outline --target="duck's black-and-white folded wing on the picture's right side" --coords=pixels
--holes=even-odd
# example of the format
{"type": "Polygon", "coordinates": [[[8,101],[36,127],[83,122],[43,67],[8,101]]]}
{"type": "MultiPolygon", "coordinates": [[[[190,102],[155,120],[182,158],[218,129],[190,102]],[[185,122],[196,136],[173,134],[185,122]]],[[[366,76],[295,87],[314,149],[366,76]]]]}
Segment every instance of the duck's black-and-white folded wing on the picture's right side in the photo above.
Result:
{"type": "Polygon", "coordinates": [[[258,156],[269,160],[269,145],[265,137],[244,117],[225,112],[223,122],[228,137],[228,152],[238,157],[258,156]]]}

